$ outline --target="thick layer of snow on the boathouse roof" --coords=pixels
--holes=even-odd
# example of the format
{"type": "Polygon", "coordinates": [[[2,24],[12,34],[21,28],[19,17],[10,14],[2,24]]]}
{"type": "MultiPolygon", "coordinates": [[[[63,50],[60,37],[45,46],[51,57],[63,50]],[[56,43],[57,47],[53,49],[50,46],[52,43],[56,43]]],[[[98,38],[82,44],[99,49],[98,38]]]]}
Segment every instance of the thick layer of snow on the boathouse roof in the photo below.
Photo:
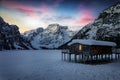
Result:
{"type": "Polygon", "coordinates": [[[116,43],[109,41],[91,40],[91,39],[74,39],[68,45],[80,43],[84,45],[101,45],[101,46],[116,46],[116,43]]]}

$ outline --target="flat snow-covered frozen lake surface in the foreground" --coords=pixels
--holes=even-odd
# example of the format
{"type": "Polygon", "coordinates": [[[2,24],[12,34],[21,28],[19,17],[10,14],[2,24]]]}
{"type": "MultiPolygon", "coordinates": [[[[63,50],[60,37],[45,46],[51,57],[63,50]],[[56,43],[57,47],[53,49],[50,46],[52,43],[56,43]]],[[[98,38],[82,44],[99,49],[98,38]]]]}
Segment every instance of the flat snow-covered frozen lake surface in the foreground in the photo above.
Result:
{"type": "Polygon", "coordinates": [[[62,61],[60,50],[0,51],[0,80],[119,79],[119,61],[87,65],[62,61]]]}

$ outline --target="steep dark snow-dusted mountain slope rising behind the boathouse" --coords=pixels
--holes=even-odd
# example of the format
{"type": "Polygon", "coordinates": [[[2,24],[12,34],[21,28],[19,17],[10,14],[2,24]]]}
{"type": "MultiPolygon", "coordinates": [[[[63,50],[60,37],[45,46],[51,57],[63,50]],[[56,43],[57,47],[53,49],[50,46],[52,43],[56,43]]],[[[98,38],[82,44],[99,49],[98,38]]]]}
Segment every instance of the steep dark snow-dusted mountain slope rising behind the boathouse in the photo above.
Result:
{"type": "Polygon", "coordinates": [[[94,22],[83,27],[74,38],[113,41],[120,46],[120,3],[105,9],[94,22]]]}

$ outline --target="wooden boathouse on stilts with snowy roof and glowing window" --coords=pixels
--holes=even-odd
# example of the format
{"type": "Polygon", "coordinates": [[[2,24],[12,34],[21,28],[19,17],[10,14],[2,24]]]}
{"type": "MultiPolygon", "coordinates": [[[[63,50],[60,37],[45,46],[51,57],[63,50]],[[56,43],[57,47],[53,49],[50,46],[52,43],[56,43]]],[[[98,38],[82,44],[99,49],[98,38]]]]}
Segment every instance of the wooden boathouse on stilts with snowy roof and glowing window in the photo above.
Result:
{"type": "Polygon", "coordinates": [[[68,48],[62,50],[62,60],[86,62],[93,60],[113,60],[119,55],[113,52],[116,43],[100,40],[74,39],[68,43],[68,48]]]}

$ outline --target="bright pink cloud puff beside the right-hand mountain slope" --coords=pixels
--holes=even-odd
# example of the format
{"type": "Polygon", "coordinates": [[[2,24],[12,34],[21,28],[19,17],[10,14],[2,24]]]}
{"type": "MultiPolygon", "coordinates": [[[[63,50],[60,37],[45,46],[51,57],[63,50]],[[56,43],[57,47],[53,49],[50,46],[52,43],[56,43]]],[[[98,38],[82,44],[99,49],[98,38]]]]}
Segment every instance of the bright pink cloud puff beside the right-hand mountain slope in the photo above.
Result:
{"type": "Polygon", "coordinates": [[[93,16],[92,12],[90,10],[84,10],[80,13],[80,18],[75,21],[76,24],[80,26],[84,26],[90,22],[92,22],[95,17],[93,16]]]}

